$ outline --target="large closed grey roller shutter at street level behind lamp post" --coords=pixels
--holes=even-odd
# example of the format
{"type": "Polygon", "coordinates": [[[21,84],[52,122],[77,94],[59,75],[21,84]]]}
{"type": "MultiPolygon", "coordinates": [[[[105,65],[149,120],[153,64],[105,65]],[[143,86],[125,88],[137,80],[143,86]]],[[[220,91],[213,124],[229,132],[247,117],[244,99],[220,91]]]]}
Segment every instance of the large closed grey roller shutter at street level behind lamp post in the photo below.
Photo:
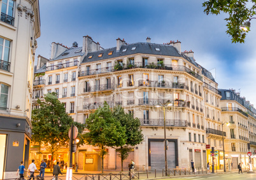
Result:
{"type": "MultiPolygon", "coordinates": [[[[169,142],[167,149],[167,165],[168,169],[176,168],[175,163],[175,142],[169,142]]],[[[151,169],[164,169],[164,142],[150,142],[150,163],[151,169]]]]}

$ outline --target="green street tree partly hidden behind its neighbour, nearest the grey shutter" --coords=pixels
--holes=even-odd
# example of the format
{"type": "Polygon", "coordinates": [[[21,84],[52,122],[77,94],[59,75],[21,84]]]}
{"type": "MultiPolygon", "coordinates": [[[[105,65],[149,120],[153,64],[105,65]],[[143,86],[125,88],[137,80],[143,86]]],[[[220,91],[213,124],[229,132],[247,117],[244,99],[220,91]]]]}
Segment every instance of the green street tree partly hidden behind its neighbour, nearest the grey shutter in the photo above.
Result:
{"type": "Polygon", "coordinates": [[[113,109],[113,116],[119,121],[122,127],[125,127],[126,141],[120,146],[117,146],[117,151],[120,153],[122,171],[123,162],[129,156],[129,153],[133,149],[132,146],[136,146],[143,141],[142,130],[139,128],[141,125],[138,118],[133,118],[132,114],[125,113],[122,106],[115,106],[113,109]]]}

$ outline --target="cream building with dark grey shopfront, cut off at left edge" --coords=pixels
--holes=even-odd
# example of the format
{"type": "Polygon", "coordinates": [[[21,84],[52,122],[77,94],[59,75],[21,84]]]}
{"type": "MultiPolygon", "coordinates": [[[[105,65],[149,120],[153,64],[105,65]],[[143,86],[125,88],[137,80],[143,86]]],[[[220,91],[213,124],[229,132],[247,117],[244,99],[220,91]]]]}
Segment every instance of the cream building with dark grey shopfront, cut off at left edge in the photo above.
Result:
{"type": "Polygon", "coordinates": [[[29,165],[38,1],[0,1],[0,179],[29,165]]]}

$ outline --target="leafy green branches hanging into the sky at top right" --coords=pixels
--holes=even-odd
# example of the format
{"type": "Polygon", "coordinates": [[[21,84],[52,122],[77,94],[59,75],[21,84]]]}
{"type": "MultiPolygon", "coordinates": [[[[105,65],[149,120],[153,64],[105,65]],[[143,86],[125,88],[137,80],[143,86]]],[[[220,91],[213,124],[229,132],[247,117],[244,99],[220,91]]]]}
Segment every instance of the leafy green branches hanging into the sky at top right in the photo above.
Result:
{"type": "MultiPolygon", "coordinates": [[[[246,32],[239,28],[255,15],[256,1],[252,0],[210,0],[203,3],[204,13],[218,15],[227,13],[227,34],[232,37],[232,43],[245,43],[246,32]]],[[[250,31],[250,30],[249,30],[250,31]]],[[[247,31],[248,32],[248,31],[247,31]]]]}

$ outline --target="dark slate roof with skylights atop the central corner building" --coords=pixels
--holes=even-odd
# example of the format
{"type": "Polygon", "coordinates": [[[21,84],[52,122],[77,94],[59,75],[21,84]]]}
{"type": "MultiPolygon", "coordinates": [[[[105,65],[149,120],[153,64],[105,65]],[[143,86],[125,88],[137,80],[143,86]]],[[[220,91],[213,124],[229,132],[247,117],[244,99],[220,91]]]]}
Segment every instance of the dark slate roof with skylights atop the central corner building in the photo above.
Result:
{"type": "Polygon", "coordinates": [[[176,48],[171,45],[160,45],[155,43],[133,43],[131,45],[122,45],[119,52],[117,52],[116,47],[99,50],[97,52],[90,52],[85,56],[82,63],[94,62],[97,60],[104,60],[110,58],[118,58],[125,55],[133,55],[136,53],[183,57],[183,55],[181,55],[181,53],[179,53],[178,50],[176,50],[176,48]],[[136,49],[132,50],[133,47],[136,47],[136,49]],[[155,50],[155,48],[159,48],[160,51],[155,50]],[[126,49],[125,52],[123,52],[124,49],[126,49]],[[113,51],[112,55],[108,55],[108,53],[111,51],[113,51]],[[103,53],[102,57],[98,57],[99,53],[103,53]],[[92,56],[92,58],[89,59],[90,56],[92,56]]]}

